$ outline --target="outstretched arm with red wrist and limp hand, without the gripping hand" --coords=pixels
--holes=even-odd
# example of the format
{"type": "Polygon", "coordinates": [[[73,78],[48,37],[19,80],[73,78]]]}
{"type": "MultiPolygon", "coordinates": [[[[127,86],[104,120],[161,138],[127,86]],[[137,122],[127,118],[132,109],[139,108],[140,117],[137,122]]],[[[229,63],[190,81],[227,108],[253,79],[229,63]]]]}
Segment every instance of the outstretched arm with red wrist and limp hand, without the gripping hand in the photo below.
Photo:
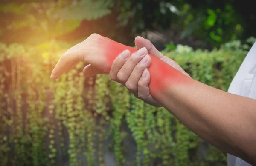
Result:
{"type": "MultiPolygon", "coordinates": [[[[97,70],[110,73],[116,57],[132,47],[93,34],[65,52],[52,71],[57,79],[76,63],[83,61],[97,70]]],[[[149,54],[151,95],[185,126],[213,146],[256,164],[256,100],[240,97],[207,86],[149,54]],[[241,125],[242,124],[242,125],[241,125]]],[[[87,68],[88,69],[88,68],[87,68]]]]}

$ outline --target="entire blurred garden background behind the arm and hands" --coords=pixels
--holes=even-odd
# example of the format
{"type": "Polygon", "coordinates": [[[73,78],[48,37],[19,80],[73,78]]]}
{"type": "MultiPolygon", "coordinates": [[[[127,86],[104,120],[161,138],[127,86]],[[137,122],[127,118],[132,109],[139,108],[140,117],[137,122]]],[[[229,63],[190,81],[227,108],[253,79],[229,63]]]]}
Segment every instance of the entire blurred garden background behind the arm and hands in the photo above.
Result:
{"type": "Polygon", "coordinates": [[[249,0],[1,0],[0,166],[226,166],[218,149],[108,75],[85,78],[79,63],[49,76],[92,33],[128,46],[140,35],[227,91],[256,41],[255,15],[249,0]]]}

